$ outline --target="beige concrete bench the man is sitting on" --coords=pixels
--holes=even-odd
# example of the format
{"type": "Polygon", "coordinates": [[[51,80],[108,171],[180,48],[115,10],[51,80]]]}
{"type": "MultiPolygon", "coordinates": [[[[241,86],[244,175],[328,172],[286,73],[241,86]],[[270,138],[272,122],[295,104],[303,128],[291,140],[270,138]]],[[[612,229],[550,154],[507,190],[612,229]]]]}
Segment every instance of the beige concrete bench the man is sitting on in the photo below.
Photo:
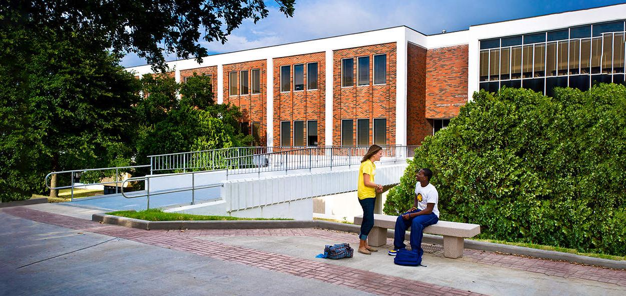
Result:
{"type": "MultiPolygon", "coordinates": [[[[398,216],[374,214],[374,228],[367,236],[367,244],[370,246],[386,245],[387,229],[396,228],[397,218],[398,216]]],[[[355,225],[361,225],[362,221],[362,215],[354,217],[355,225]]],[[[443,235],[443,255],[448,258],[460,258],[463,256],[463,239],[478,235],[480,225],[439,220],[437,224],[424,228],[424,233],[443,235]]]]}

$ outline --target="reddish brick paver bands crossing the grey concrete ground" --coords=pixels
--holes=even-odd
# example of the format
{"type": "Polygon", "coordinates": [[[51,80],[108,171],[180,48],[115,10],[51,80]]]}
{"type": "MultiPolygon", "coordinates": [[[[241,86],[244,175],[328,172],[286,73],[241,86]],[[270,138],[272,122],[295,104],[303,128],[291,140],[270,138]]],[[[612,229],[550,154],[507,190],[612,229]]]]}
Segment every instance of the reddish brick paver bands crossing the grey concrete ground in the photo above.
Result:
{"type": "MultiPolygon", "coordinates": [[[[13,216],[41,223],[125,238],[148,245],[162,246],[172,250],[208,256],[218,260],[227,260],[251,267],[289,273],[298,277],[314,278],[323,282],[343,285],[378,295],[480,295],[466,290],[442,287],[415,280],[367,272],[356,268],[341,267],[329,263],[197,238],[198,236],[312,236],[335,241],[351,241],[356,240],[356,235],[353,233],[313,228],[186,231],[138,230],[123,226],[102,225],[85,219],[24,207],[5,208],[2,211],[13,216]]],[[[391,243],[391,239],[387,242],[391,243]]],[[[464,257],[471,258],[472,262],[481,264],[498,265],[500,267],[544,273],[557,277],[583,278],[626,287],[626,270],[612,270],[610,268],[590,267],[568,262],[556,262],[469,249],[464,250],[464,257]]]]}

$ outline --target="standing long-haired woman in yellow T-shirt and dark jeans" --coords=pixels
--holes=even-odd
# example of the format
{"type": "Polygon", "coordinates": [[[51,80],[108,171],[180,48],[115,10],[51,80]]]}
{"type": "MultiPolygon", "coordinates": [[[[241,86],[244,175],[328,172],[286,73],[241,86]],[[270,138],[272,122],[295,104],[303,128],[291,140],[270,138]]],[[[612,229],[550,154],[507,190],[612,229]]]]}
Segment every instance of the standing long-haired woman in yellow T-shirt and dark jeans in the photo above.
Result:
{"type": "Polygon", "coordinates": [[[382,185],[374,183],[376,176],[376,165],[374,161],[381,160],[382,148],[379,145],[372,145],[367,149],[367,153],[361,159],[359,167],[359,187],[358,196],[361,208],[363,208],[363,222],[361,223],[361,233],[359,233],[359,253],[371,255],[377,252],[376,248],[367,245],[367,235],[374,226],[374,204],[376,203],[376,193],[382,193],[382,185]]]}

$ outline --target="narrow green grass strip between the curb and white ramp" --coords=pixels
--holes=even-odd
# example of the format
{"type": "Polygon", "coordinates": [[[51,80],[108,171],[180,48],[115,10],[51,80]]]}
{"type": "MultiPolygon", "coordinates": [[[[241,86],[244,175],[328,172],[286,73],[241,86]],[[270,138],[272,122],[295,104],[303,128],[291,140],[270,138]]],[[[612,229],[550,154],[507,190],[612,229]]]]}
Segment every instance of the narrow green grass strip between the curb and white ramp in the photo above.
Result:
{"type": "Polygon", "coordinates": [[[146,209],[144,211],[115,211],[106,213],[114,216],[141,219],[147,221],[239,221],[239,220],[292,220],[281,218],[239,218],[230,216],[203,216],[193,214],[165,213],[161,209],[146,209]]]}

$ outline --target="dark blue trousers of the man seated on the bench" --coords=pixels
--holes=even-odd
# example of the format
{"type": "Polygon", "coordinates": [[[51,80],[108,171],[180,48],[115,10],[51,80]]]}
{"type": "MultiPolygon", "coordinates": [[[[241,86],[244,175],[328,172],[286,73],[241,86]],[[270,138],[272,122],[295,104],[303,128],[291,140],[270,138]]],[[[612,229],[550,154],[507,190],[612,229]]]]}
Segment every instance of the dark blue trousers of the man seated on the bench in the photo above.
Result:
{"type": "MultiPolygon", "coordinates": [[[[404,214],[418,212],[419,209],[416,209],[414,211],[409,211],[404,214]]],[[[439,218],[434,213],[414,216],[413,218],[409,218],[408,220],[403,219],[402,215],[398,216],[398,219],[396,219],[396,234],[393,240],[394,250],[399,250],[406,247],[406,245],[404,245],[404,234],[409,227],[411,228],[411,236],[409,240],[411,242],[411,249],[418,250],[422,247],[424,228],[426,228],[426,226],[436,224],[438,221],[439,218]]]]}

